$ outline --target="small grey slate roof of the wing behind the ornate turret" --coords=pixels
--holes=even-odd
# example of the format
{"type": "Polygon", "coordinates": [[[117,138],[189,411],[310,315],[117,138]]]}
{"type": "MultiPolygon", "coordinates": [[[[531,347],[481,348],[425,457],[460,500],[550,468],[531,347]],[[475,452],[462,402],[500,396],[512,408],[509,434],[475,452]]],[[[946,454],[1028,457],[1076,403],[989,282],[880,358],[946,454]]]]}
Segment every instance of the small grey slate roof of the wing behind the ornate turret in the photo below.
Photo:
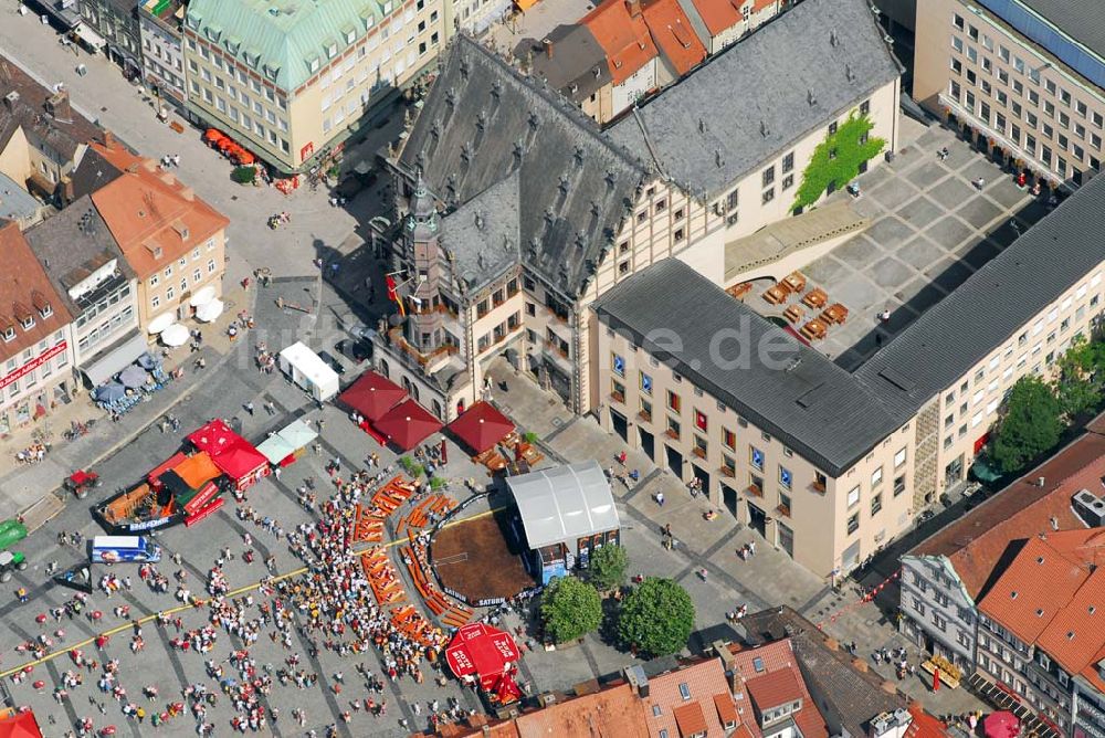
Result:
{"type": "Polygon", "coordinates": [[[520,259],[518,179],[512,172],[441,220],[441,245],[467,292],[483,288],[520,259]]]}

